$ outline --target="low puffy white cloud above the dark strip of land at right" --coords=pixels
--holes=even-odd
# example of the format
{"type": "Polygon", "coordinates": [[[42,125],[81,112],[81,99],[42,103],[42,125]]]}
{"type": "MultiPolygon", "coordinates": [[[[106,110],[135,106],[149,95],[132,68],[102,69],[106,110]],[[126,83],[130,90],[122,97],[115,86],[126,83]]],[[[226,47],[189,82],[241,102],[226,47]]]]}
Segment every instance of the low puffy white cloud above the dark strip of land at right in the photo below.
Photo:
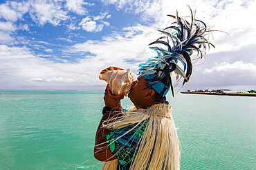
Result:
{"type": "Polygon", "coordinates": [[[256,65],[236,61],[234,63],[222,62],[211,68],[194,67],[190,86],[199,87],[232,87],[232,86],[255,86],[256,65]]]}

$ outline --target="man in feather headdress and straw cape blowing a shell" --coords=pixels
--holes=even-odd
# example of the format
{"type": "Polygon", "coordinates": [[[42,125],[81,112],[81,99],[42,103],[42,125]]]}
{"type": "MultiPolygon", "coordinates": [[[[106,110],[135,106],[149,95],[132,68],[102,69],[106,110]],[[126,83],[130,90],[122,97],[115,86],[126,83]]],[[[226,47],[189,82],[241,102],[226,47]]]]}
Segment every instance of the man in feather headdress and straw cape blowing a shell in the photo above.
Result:
{"type": "Polygon", "coordinates": [[[210,30],[190,11],[191,23],[178,14],[168,15],[176,22],[149,44],[166,48],[151,47],[158,56],[139,65],[140,76],[128,94],[134,107],[123,110],[124,94],[111,94],[107,85],[94,150],[95,158],[104,162],[102,169],[180,169],[179,138],[165,96],[170,89],[174,96],[172,73],[177,83],[184,78],[184,85],[192,74],[192,52],[202,58],[207,45],[212,45],[205,39],[210,30]]]}

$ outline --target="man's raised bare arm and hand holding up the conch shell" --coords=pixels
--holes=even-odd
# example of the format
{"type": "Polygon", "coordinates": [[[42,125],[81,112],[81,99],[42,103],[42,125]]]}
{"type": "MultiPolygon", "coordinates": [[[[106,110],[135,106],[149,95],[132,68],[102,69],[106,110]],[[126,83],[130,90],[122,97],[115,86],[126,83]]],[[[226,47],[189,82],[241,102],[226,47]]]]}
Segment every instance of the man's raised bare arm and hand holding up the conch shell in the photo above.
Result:
{"type": "MultiPolygon", "coordinates": [[[[116,111],[122,111],[122,107],[120,105],[120,100],[122,98],[124,98],[124,94],[120,94],[118,96],[111,94],[109,92],[109,85],[107,85],[104,95],[104,103],[107,107],[116,109],[116,111]]],[[[109,118],[112,118],[113,116],[117,116],[117,114],[114,114],[111,111],[106,111],[103,113],[102,119],[100,120],[100,124],[96,132],[94,156],[97,160],[100,161],[116,159],[116,157],[111,153],[107,144],[107,134],[109,134],[111,131],[102,127],[104,120],[109,120],[109,118]]]]}

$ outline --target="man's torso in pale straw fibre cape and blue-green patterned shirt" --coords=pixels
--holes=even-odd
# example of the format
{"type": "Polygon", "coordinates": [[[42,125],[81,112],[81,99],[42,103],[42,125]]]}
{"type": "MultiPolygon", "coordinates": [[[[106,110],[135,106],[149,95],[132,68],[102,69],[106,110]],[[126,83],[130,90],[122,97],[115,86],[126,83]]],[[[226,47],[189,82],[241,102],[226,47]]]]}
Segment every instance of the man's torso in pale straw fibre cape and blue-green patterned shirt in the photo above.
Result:
{"type": "Polygon", "coordinates": [[[107,142],[118,169],[179,169],[179,138],[170,111],[161,103],[104,123],[113,129],[107,142]]]}

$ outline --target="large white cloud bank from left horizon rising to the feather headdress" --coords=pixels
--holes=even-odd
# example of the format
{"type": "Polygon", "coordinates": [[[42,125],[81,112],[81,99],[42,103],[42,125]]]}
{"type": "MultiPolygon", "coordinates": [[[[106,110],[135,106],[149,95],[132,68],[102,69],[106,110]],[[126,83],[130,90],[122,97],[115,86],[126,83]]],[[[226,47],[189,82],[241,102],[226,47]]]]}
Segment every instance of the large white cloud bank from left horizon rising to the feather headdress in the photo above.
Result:
{"type": "MultiPolygon", "coordinates": [[[[86,41],[69,49],[73,52],[91,52],[77,63],[55,63],[34,56],[26,47],[0,46],[0,84],[1,89],[11,88],[84,88],[88,85],[102,85],[98,80],[101,70],[109,65],[131,68],[136,73],[137,63],[151,55],[147,46],[152,37],[147,36],[154,29],[142,25],[129,28],[125,34],[112,34],[103,41],[86,41]],[[143,31],[144,30],[144,31],[143,31]],[[134,34],[125,38],[126,34],[134,34]],[[134,61],[136,64],[127,62],[134,61]]],[[[153,33],[154,34],[154,33],[153,33]]],[[[136,76],[134,74],[134,76],[136,76]]]]}

